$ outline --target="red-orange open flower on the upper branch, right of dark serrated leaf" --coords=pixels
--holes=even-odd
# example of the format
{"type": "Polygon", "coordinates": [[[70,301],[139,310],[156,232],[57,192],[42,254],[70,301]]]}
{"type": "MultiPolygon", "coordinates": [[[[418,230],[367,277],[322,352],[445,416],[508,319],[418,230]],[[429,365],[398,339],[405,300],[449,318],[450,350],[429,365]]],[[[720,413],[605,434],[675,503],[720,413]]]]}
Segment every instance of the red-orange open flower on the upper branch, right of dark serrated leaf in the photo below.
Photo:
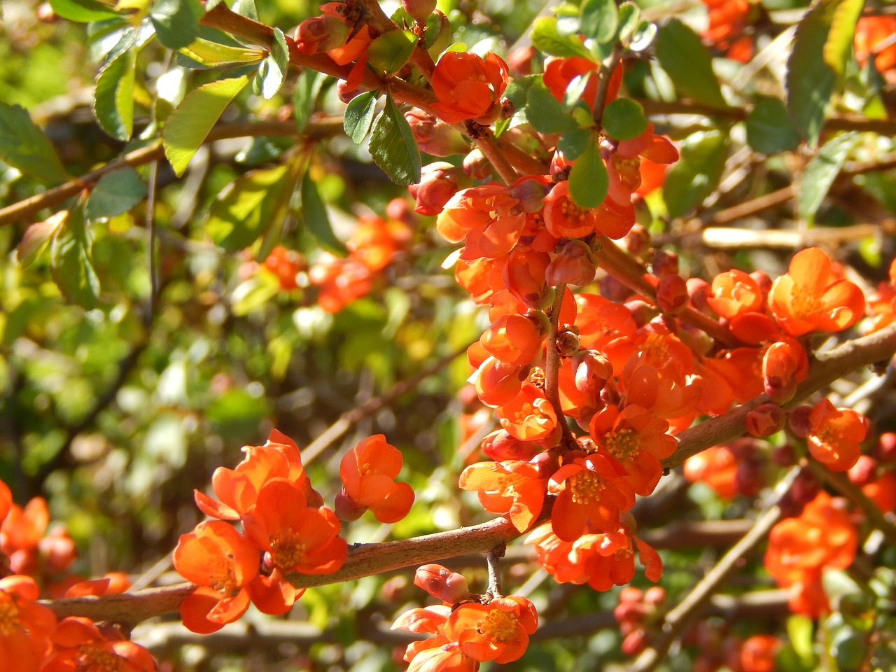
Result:
{"type": "Polygon", "coordinates": [[[433,109],[449,124],[473,119],[491,124],[501,112],[499,99],[507,86],[507,64],[488,52],[483,59],[465,51],[448,51],[435,65],[433,109]]]}

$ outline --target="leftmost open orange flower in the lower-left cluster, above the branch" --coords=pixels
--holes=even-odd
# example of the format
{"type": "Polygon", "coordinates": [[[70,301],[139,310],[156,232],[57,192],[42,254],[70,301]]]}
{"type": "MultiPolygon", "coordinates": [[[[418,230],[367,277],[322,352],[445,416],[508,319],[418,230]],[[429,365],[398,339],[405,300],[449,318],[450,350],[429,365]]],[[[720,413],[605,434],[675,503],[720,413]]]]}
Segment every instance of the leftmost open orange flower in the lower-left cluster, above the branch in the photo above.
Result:
{"type": "Polygon", "coordinates": [[[180,606],[189,630],[214,633],[246,612],[246,587],[258,573],[258,548],[228,522],[201,522],[181,535],[172,560],[177,573],[198,586],[180,606]]]}

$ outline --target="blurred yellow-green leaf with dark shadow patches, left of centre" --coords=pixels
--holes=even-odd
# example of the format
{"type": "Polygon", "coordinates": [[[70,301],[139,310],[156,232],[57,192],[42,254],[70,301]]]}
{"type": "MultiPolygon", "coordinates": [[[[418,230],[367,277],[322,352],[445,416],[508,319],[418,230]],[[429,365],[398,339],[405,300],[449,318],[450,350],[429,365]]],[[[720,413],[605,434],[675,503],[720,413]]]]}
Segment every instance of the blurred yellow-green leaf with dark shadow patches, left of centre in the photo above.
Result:
{"type": "Polygon", "coordinates": [[[296,190],[289,165],[252,170],[237,177],[211,203],[205,230],[225,252],[251,246],[271,227],[280,227],[296,190]]]}

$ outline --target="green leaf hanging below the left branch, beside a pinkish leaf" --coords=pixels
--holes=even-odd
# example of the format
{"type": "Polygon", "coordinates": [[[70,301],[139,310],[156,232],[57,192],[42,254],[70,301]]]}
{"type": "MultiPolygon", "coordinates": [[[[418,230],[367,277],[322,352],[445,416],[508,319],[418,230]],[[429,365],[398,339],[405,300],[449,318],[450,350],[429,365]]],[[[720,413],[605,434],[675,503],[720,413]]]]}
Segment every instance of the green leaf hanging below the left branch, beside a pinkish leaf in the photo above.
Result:
{"type": "Polygon", "coordinates": [[[80,210],[70,211],[50,244],[50,271],[69,301],[87,308],[99,305],[99,278],[90,258],[90,234],[80,210]]]}

